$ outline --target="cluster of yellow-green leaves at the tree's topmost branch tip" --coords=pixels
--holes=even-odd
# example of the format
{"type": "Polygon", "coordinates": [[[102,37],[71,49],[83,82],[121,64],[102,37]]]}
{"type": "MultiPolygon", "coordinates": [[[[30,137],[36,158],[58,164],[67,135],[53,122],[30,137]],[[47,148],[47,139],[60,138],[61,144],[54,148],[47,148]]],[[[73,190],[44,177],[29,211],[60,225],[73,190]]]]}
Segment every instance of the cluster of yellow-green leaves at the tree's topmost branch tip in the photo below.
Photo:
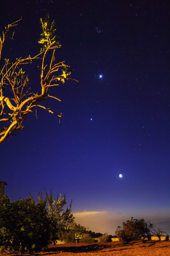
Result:
{"type": "MultiPolygon", "coordinates": [[[[42,26],[43,29],[43,33],[41,34],[41,39],[38,40],[38,43],[40,44],[44,44],[43,47],[41,48],[41,53],[44,52],[48,46],[56,41],[59,37],[57,37],[57,35],[53,36],[54,32],[56,31],[55,26],[56,26],[56,22],[55,20],[53,20],[52,24],[51,24],[51,28],[49,29],[49,14],[47,13],[46,18],[44,20],[44,22],[42,21],[42,18],[40,19],[40,24],[42,26]]],[[[56,46],[60,47],[60,43],[59,42],[55,42],[56,46]]]]}

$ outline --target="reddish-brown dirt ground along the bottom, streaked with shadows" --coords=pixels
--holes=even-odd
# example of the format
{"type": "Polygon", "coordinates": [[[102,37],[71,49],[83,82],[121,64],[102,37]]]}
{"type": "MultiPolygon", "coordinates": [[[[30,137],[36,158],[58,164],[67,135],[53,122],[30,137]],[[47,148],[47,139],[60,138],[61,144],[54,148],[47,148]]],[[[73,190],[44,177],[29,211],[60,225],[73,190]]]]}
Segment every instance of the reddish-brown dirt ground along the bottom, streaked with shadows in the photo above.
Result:
{"type": "MultiPolygon", "coordinates": [[[[1,253],[1,256],[9,253],[1,253]]],[[[48,251],[31,254],[10,254],[10,256],[170,256],[170,241],[132,241],[130,243],[68,243],[49,245],[48,251]]]]}

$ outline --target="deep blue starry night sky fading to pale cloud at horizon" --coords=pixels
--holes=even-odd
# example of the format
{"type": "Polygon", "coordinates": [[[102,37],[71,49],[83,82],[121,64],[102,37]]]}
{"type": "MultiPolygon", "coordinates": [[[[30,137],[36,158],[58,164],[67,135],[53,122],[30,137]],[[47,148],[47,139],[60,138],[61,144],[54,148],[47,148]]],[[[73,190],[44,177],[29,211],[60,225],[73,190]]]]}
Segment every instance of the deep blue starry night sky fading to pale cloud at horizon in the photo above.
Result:
{"type": "MultiPolygon", "coordinates": [[[[0,0],[0,33],[22,16],[3,59],[40,52],[43,20],[56,21],[56,61],[74,69],[46,107],[0,146],[0,180],[12,201],[51,188],[75,222],[115,233],[144,218],[170,233],[169,14],[161,1],[0,0]],[[122,174],[122,177],[119,177],[122,174]]],[[[41,91],[37,64],[22,68],[41,91]]],[[[7,95],[4,95],[7,96],[7,95]]],[[[99,231],[98,231],[99,230],[99,231]]]]}

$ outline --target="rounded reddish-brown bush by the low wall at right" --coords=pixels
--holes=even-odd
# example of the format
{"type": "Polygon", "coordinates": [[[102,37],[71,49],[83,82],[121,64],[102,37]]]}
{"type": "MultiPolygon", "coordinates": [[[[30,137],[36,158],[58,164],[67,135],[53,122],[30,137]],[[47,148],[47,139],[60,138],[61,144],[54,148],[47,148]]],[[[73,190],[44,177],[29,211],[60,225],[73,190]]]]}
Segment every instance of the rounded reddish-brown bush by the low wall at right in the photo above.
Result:
{"type": "Polygon", "coordinates": [[[138,220],[132,217],[131,221],[123,222],[123,229],[118,226],[115,232],[119,240],[129,242],[144,236],[151,236],[152,227],[153,224],[145,222],[143,218],[138,220]]]}

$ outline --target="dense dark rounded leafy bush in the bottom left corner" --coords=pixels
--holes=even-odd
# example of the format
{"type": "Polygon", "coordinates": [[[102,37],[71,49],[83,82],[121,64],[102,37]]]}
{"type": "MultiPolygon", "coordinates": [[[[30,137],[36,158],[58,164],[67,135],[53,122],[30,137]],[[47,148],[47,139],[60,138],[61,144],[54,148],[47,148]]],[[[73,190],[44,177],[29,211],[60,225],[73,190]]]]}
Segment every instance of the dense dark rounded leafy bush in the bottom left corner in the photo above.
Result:
{"type": "Polygon", "coordinates": [[[46,200],[36,204],[32,198],[0,199],[0,248],[8,251],[36,251],[50,241],[46,200]]]}

